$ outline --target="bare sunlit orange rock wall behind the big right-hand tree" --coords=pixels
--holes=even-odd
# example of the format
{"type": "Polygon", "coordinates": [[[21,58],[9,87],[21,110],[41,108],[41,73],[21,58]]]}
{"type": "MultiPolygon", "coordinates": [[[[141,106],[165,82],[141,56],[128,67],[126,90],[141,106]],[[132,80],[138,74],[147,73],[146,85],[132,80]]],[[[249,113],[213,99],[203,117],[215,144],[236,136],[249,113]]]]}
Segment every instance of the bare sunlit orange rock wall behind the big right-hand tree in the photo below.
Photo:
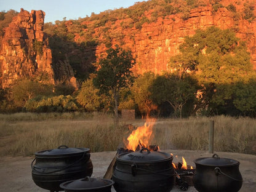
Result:
{"type": "MultiPolygon", "coordinates": [[[[227,1],[226,4],[228,2],[231,1],[227,1]]],[[[238,6],[237,11],[242,11],[242,8],[238,6]]],[[[150,12],[146,17],[151,17],[150,12]]],[[[182,19],[182,14],[169,15],[164,19],[158,18],[157,22],[144,23],[139,32],[135,28],[132,30],[121,28],[121,22],[124,20],[108,26],[111,28],[111,33],[124,35],[122,43],[116,38],[113,38],[112,42],[123,44],[122,47],[129,47],[132,50],[134,57],[137,57],[137,65],[134,68],[137,74],[146,71],[154,73],[168,71],[169,59],[178,54],[178,47],[185,36],[193,36],[196,30],[205,30],[209,26],[217,26],[222,30],[231,29],[241,41],[246,41],[256,70],[256,20],[249,22],[242,17],[234,17],[234,13],[225,7],[219,8],[217,12],[213,11],[212,5],[192,9],[187,20],[182,19]]],[[[103,38],[100,30],[95,31],[96,36],[103,38]]],[[[102,54],[105,49],[103,45],[98,46],[97,55],[102,54]]]]}

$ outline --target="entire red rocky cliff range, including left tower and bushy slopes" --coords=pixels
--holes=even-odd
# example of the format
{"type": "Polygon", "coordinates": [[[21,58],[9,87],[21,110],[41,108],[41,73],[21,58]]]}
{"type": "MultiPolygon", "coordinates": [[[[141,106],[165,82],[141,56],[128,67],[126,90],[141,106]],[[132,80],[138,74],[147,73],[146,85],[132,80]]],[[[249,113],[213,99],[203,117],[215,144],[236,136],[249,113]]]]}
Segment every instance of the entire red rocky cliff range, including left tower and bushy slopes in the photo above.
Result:
{"type": "Polygon", "coordinates": [[[206,0],[202,1],[204,5],[186,9],[187,2],[149,0],[128,9],[108,10],[99,15],[48,25],[50,28],[45,31],[48,31],[49,39],[55,39],[54,44],[57,46],[49,45],[49,40],[42,31],[44,12],[32,10],[29,13],[22,9],[6,28],[2,39],[2,87],[8,87],[15,79],[24,76],[44,74],[47,74],[52,83],[56,79],[68,79],[75,85],[74,76],[85,79],[91,73],[92,63],[115,44],[132,50],[137,59],[135,74],[168,71],[169,59],[178,54],[178,47],[185,36],[193,36],[196,30],[204,30],[209,26],[233,30],[241,41],[246,41],[256,70],[255,1],[206,0]],[[153,6],[142,11],[143,6],[148,6],[148,2],[153,6]],[[185,6],[180,2],[185,3],[185,6]],[[159,8],[159,4],[162,7],[159,8]],[[171,7],[171,11],[155,16],[156,9],[159,14],[167,6],[171,7]],[[246,15],[246,9],[249,16],[246,15]],[[137,12],[141,14],[136,15],[137,12]],[[137,25],[142,20],[150,22],[137,25]],[[68,39],[66,44],[65,39],[68,39]]]}

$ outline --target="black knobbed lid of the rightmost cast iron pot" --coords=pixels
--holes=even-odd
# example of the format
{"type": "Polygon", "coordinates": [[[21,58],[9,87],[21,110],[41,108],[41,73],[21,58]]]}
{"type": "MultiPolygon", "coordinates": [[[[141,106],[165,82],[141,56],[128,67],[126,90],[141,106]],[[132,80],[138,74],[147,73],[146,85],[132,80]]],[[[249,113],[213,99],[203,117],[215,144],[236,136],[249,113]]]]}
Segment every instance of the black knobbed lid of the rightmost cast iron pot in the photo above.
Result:
{"type": "Polygon", "coordinates": [[[234,166],[240,164],[239,161],[234,159],[220,158],[217,154],[214,154],[212,158],[196,159],[194,162],[203,166],[234,166]]]}

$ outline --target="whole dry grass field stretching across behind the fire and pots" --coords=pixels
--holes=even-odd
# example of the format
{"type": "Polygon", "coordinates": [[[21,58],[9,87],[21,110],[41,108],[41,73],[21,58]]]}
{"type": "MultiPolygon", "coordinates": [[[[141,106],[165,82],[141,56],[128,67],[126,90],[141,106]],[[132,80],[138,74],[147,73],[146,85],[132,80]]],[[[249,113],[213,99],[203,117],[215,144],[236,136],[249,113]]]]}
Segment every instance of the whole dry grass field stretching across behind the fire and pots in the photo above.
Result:
{"type": "MultiPolygon", "coordinates": [[[[256,154],[256,119],[213,118],[158,119],[151,143],[161,150],[208,150],[209,121],[214,120],[214,151],[256,154]]],[[[118,128],[106,114],[17,113],[0,114],[0,156],[31,156],[36,151],[87,147],[91,152],[115,151],[145,122],[124,121],[118,128]]]]}

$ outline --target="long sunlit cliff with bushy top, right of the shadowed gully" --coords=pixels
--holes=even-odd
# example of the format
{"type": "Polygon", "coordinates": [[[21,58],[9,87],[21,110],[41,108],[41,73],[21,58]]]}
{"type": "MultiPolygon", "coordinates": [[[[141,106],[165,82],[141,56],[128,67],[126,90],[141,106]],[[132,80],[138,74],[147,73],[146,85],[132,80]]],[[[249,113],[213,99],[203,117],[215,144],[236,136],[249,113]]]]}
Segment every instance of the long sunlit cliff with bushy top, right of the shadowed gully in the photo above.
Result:
{"type": "MultiPolygon", "coordinates": [[[[142,74],[146,71],[161,73],[169,70],[169,59],[171,56],[178,54],[178,47],[184,41],[185,36],[193,36],[198,29],[205,30],[210,26],[217,26],[222,30],[230,29],[234,31],[241,41],[246,41],[254,70],[256,70],[255,1],[206,0],[203,1],[203,6],[197,5],[189,11],[186,9],[188,1],[179,1],[185,3],[183,7],[177,2],[159,0],[156,3],[154,1],[153,7],[146,9],[145,12],[143,10],[143,14],[135,18],[132,18],[133,14],[137,14],[143,6],[147,6],[146,2],[129,7],[129,10],[119,11],[119,15],[122,15],[120,17],[116,13],[118,10],[102,13],[98,17],[93,15],[91,17],[97,18],[97,20],[89,18],[82,21],[81,25],[86,26],[86,28],[75,34],[74,41],[78,43],[87,41],[88,36],[90,36],[90,39],[96,39],[98,44],[94,47],[94,51],[97,57],[100,57],[108,49],[107,44],[119,44],[124,49],[132,50],[134,57],[137,58],[137,65],[134,68],[135,74],[142,74]],[[161,9],[156,8],[161,3],[164,6],[161,9]],[[141,7],[139,7],[140,4],[142,4],[141,7]],[[159,9],[158,12],[161,12],[164,9],[163,7],[166,6],[172,6],[173,10],[180,11],[173,11],[162,17],[158,16],[152,22],[156,13],[155,9],[159,9]],[[183,10],[186,12],[183,12],[183,10]],[[246,15],[246,11],[250,14],[246,15]],[[126,15],[130,12],[132,14],[126,15]],[[107,17],[108,20],[106,20],[107,17]],[[137,27],[135,22],[138,21],[139,23],[142,20],[150,22],[143,22],[142,26],[137,27]],[[89,33],[89,31],[93,32],[89,33]],[[84,33],[87,35],[82,35],[84,33]]],[[[73,28],[72,26],[76,26],[76,24],[70,21],[66,22],[68,31],[73,28]]],[[[87,60],[86,65],[89,65],[90,62],[95,61],[87,60]]]]}

